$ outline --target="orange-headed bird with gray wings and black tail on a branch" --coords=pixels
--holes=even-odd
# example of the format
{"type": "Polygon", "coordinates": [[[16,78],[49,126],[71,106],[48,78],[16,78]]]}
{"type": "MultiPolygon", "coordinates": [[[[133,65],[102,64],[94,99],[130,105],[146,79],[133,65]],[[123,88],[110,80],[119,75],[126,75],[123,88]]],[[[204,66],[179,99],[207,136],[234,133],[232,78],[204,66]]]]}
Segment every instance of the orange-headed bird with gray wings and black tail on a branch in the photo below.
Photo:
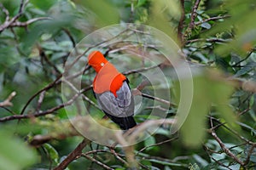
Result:
{"type": "Polygon", "coordinates": [[[88,55],[88,65],[96,71],[93,92],[102,111],[120,129],[128,130],[137,125],[134,119],[134,99],[129,80],[104,57],[100,51],[88,55]]]}

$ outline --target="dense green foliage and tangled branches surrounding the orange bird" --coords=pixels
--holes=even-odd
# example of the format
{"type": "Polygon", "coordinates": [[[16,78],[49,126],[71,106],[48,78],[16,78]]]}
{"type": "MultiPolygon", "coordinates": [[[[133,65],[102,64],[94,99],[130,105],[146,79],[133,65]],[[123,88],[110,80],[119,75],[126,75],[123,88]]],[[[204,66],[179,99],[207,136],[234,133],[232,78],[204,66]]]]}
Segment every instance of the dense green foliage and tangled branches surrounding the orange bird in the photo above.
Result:
{"type": "Polygon", "coordinates": [[[255,6],[254,0],[3,0],[0,169],[255,168],[255,6]],[[91,37],[88,46],[79,46],[93,31],[113,24],[127,26],[124,23],[137,25],[124,32],[109,31],[116,36],[113,39],[105,32],[100,38],[91,37]],[[158,49],[166,52],[172,44],[161,44],[140,24],[154,26],[179,44],[178,60],[189,63],[192,80],[187,72],[180,80],[175,63],[162,58],[158,49]],[[123,41],[137,37],[143,43],[123,41]],[[92,42],[100,43],[90,47],[92,42]],[[124,74],[131,88],[140,91],[136,100],[143,106],[135,118],[141,127],[128,136],[107,133],[92,126],[88,117],[80,117],[83,108],[77,99],[81,98],[98,123],[117,128],[102,120],[90,88],[95,73],[84,56],[98,48],[119,70],[128,68],[124,74]],[[73,61],[68,56],[76,53],[85,54],[81,55],[83,69],[78,71],[82,88],[75,91],[77,87],[69,86],[65,99],[61,95],[63,73],[73,61]],[[145,75],[156,66],[165,77],[155,74],[155,83],[150,84],[145,75]],[[168,86],[158,82],[159,77],[168,86]],[[188,87],[188,81],[193,87],[188,87]],[[178,105],[180,99],[189,102],[190,89],[193,98],[186,115],[178,105]],[[154,90],[163,95],[154,96],[154,90]],[[152,111],[157,114],[150,116],[152,111]],[[166,122],[158,114],[165,114],[166,122]],[[174,121],[176,126],[171,126],[174,121]],[[124,138],[118,140],[120,146],[148,138],[113,148],[84,139],[73,123],[97,138],[124,138]],[[154,135],[148,135],[151,131],[154,135]]]}

